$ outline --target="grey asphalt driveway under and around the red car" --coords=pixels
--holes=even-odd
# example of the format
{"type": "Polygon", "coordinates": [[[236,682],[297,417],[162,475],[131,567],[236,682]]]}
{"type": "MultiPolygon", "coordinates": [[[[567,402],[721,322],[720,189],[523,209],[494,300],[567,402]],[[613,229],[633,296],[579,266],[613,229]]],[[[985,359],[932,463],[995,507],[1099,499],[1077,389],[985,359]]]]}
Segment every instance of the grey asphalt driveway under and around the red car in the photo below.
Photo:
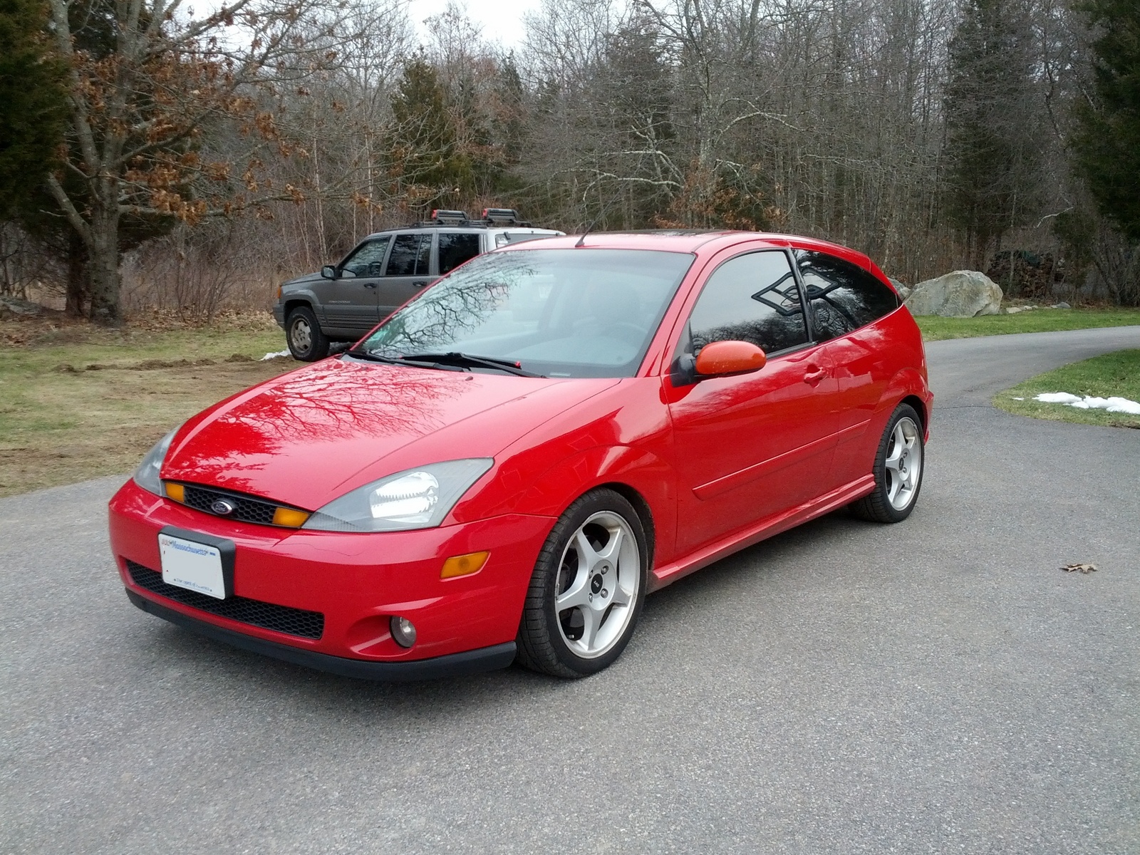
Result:
{"type": "Polygon", "coordinates": [[[987,406],[1121,347],[1140,327],[933,344],[910,521],[722,561],[573,683],[203,641],[123,596],[121,479],[5,499],[0,850],[1140,852],[1140,431],[987,406]]]}

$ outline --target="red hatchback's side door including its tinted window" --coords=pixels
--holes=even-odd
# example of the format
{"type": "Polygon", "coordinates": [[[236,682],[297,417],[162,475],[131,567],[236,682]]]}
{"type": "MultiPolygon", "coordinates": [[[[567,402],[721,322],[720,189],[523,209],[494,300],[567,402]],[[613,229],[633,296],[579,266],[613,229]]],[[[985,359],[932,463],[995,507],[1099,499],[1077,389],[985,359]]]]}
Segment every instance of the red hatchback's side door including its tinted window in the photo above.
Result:
{"type": "Polygon", "coordinates": [[[785,251],[738,254],[716,266],[681,333],[675,365],[714,341],[751,342],[768,361],[750,374],[685,383],[675,370],[665,381],[681,479],[679,553],[830,486],[826,415],[834,381],[822,347],[809,342],[785,251]]]}

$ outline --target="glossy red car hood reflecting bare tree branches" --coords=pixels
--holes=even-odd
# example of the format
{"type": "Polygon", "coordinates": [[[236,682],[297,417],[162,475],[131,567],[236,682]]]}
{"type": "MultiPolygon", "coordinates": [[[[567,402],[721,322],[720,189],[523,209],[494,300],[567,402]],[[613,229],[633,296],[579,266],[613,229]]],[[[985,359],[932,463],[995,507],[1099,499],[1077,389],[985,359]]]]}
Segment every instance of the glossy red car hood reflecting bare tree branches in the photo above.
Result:
{"type": "Polygon", "coordinates": [[[410,466],[494,457],[618,382],[326,359],[192,418],[162,478],[312,511],[410,466]]]}

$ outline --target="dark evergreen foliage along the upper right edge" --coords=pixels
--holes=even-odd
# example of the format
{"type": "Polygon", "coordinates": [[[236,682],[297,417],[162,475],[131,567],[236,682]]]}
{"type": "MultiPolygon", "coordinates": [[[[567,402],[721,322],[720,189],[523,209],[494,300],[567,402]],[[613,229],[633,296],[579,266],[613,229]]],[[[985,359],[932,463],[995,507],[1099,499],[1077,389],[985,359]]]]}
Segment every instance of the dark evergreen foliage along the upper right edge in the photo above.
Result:
{"type": "Polygon", "coordinates": [[[1140,3],[1082,5],[1099,31],[1093,42],[1093,103],[1077,103],[1077,165],[1100,212],[1140,242],[1140,3]]]}

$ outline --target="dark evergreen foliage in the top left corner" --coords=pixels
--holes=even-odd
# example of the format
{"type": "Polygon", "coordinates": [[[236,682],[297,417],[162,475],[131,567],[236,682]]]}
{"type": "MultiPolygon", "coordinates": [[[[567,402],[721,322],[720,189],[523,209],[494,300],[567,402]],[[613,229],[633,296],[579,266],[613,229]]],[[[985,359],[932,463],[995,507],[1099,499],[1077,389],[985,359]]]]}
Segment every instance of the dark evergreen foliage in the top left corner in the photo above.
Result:
{"type": "Polygon", "coordinates": [[[46,24],[38,0],[0,0],[0,217],[42,184],[63,141],[65,70],[46,24]]]}

